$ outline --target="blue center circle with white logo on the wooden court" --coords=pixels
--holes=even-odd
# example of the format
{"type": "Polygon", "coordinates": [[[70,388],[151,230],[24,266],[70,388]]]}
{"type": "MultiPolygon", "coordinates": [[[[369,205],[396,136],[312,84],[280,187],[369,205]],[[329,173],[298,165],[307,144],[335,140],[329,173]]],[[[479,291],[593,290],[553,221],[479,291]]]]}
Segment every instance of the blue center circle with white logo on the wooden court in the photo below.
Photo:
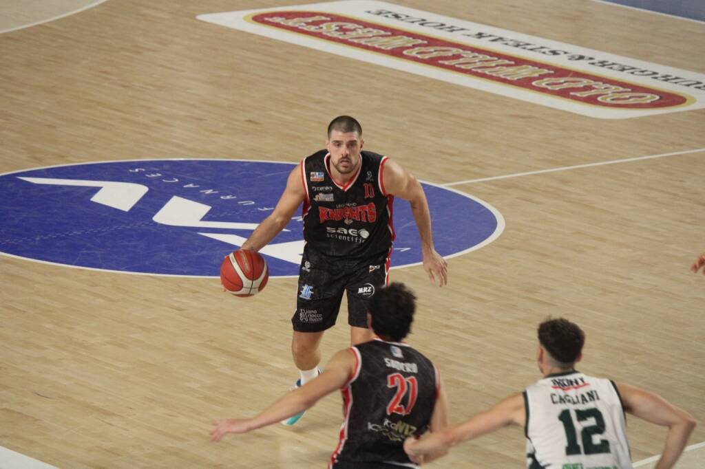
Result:
{"type": "MultiPolygon", "coordinates": [[[[271,213],[296,163],[168,159],[58,165],[0,175],[0,254],[93,270],[218,277],[271,213]]],[[[422,183],[434,244],[459,256],[496,239],[501,213],[468,194],[422,183]]],[[[407,201],[395,199],[392,267],[422,261],[407,201]]],[[[300,211],[262,251],[272,277],[299,273],[300,211]]]]}

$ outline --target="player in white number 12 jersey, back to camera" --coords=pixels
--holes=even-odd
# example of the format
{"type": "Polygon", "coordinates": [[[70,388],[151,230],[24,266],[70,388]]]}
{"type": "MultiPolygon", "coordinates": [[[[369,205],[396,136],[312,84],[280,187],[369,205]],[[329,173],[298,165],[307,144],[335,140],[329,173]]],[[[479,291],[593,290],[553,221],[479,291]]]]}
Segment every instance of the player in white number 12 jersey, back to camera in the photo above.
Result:
{"type": "Polygon", "coordinates": [[[589,377],[575,370],[585,336],[565,319],[539,325],[537,362],[544,377],[460,425],[410,438],[404,449],[412,461],[442,454],[450,446],[506,425],[525,428],[529,469],[632,468],[625,412],[668,427],[655,469],[673,468],[695,427],[687,412],[660,396],[628,384],[589,377]]]}

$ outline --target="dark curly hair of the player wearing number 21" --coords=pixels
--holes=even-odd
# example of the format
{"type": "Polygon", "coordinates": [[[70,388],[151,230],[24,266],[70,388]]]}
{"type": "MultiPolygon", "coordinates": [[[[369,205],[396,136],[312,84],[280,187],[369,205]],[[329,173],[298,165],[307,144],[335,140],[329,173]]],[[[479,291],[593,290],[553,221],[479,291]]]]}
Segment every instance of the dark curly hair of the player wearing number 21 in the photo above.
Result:
{"type": "Polygon", "coordinates": [[[394,282],[378,289],[369,302],[374,333],[400,342],[411,330],[416,311],[416,296],[403,283],[394,282]]]}

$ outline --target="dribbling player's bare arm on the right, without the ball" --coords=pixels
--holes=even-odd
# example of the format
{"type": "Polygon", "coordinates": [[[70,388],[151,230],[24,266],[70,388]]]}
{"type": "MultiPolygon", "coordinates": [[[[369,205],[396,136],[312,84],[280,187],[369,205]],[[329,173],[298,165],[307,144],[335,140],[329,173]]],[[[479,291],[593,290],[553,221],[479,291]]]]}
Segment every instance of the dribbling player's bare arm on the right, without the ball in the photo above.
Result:
{"type": "Polygon", "coordinates": [[[434,247],[429,203],[421,183],[398,163],[388,160],[384,163],[382,185],[387,194],[409,201],[421,238],[424,270],[432,282],[435,282],[438,276],[441,287],[448,284],[448,263],[434,247]]]}

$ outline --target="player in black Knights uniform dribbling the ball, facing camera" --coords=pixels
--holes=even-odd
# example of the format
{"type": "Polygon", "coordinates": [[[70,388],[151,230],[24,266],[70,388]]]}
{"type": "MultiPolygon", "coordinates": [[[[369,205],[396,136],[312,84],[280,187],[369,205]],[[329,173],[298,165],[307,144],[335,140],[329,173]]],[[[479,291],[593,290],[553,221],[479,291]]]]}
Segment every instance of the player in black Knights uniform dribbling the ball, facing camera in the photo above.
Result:
{"type": "MultiPolygon", "coordinates": [[[[291,171],[274,211],[243,244],[259,251],[285,227],[303,204],[306,241],[292,318],[292,354],[301,378],[319,373],[319,344],[336,323],[343,292],[348,295],[350,343],[369,340],[365,314],[376,289],[388,282],[394,240],[392,204],[398,196],[411,203],[422,242],[423,265],[431,281],[446,284],[446,261],[434,249],[431,217],[419,182],[394,161],[363,151],[362,127],[341,115],[328,127],[326,149],[305,158],[291,171]]],[[[286,425],[300,418],[283,422],[286,425]]]]}

